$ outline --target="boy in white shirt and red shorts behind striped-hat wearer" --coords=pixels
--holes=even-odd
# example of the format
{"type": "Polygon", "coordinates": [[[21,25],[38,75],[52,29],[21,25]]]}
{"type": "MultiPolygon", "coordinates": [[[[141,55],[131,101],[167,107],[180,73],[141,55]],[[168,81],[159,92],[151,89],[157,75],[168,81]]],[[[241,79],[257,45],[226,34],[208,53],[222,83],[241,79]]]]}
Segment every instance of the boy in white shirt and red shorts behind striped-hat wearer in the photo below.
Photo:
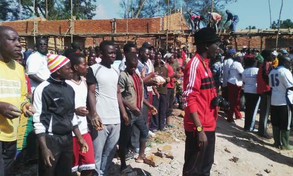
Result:
{"type": "Polygon", "coordinates": [[[86,120],[88,114],[88,110],[86,110],[87,85],[83,78],[86,76],[88,66],[85,56],[81,53],[71,53],[68,58],[71,62],[73,77],[65,82],[75,91],[75,115],[81,134],[88,145],[88,152],[83,154],[80,151],[77,138],[73,134],[72,172],[79,170],[81,176],[91,176],[93,169],[95,169],[95,158],[92,138],[86,120]]]}

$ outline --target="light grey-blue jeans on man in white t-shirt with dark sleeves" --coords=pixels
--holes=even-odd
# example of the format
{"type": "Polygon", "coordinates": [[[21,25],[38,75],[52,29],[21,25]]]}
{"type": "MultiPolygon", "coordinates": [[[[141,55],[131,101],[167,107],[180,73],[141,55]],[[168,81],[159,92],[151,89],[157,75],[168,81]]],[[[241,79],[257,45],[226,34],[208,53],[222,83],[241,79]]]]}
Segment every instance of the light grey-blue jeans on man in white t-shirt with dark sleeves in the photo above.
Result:
{"type": "Polygon", "coordinates": [[[93,176],[106,176],[112,164],[119,139],[120,124],[104,125],[104,130],[91,131],[95,153],[95,171],[93,176]]]}

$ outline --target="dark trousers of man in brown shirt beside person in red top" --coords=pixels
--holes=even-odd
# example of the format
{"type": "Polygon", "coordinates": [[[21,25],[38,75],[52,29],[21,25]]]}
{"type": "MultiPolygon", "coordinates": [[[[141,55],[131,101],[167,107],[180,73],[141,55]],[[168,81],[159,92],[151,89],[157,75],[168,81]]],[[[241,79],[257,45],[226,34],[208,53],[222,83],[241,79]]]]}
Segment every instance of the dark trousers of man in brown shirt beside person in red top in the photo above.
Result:
{"type": "Polygon", "coordinates": [[[166,108],[167,108],[167,95],[160,94],[160,97],[153,96],[153,106],[158,110],[156,115],[152,115],[151,128],[152,130],[163,130],[165,128],[166,121],[166,108]]]}

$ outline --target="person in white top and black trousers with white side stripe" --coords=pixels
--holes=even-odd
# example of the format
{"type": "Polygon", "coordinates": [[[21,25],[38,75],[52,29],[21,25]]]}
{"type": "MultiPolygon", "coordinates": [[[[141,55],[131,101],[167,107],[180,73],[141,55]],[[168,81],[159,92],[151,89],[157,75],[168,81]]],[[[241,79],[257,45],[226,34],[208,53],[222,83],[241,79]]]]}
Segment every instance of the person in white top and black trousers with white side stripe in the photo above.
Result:
{"type": "Polygon", "coordinates": [[[247,57],[244,60],[246,66],[242,73],[242,82],[244,84],[244,96],[245,96],[245,122],[244,130],[257,132],[254,129],[255,116],[258,110],[260,98],[256,93],[256,77],[258,68],[256,67],[256,58],[247,57]]]}

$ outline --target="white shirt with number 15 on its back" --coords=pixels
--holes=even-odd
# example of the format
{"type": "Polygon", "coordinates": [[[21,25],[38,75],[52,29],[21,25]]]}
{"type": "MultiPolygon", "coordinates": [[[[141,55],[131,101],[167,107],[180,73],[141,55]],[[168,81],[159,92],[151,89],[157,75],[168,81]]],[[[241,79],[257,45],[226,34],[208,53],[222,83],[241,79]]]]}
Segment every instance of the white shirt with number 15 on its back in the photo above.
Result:
{"type": "Polygon", "coordinates": [[[293,87],[293,77],[289,69],[284,66],[277,66],[270,72],[269,80],[272,88],[271,105],[292,105],[293,91],[288,88],[293,87]]]}

